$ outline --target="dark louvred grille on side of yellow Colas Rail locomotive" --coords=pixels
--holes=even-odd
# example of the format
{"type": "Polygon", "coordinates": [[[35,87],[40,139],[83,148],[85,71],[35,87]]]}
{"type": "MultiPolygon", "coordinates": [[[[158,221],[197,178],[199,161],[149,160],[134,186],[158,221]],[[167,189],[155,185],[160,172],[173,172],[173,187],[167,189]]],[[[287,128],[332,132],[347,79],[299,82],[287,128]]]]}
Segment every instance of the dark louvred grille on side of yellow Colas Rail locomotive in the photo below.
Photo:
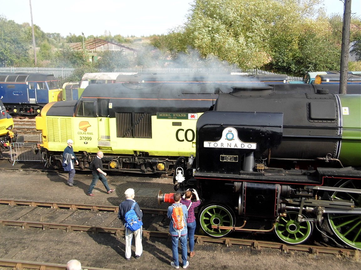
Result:
{"type": "Polygon", "coordinates": [[[117,137],[152,138],[151,116],[150,113],[117,112],[117,137]]]}

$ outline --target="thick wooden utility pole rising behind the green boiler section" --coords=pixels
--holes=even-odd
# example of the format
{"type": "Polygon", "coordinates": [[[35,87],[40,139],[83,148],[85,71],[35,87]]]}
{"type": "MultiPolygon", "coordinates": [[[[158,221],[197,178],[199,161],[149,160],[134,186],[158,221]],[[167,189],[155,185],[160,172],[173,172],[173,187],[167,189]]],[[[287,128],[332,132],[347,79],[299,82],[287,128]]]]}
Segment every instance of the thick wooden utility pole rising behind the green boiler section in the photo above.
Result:
{"type": "Polygon", "coordinates": [[[342,44],[341,44],[341,70],[340,70],[340,93],[346,94],[347,72],[348,72],[348,51],[350,44],[350,20],[351,0],[345,0],[343,11],[342,44]]]}

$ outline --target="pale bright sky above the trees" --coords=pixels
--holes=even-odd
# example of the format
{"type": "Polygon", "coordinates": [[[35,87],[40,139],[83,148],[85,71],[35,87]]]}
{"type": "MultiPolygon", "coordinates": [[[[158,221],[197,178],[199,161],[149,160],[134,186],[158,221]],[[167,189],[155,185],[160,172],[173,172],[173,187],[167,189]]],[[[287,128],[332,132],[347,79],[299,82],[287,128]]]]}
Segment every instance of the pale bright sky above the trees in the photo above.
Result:
{"type": "MultiPolygon", "coordinates": [[[[46,33],[100,36],[167,34],[187,20],[193,0],[31,0],[33,23],[46,33]],[[94,4],[96,3],[96,4],[94,4]],[[104,4],[103,4],[104,3],[104,4]]],[[[352,0],[351,13],[361,17],[361,1],[352,0]]],[[[343,1],[324,0],[327,14],[343,14],[343,1]]],[[[0,15],[31,25],[29,0],[0,0],[0,15]]]]}

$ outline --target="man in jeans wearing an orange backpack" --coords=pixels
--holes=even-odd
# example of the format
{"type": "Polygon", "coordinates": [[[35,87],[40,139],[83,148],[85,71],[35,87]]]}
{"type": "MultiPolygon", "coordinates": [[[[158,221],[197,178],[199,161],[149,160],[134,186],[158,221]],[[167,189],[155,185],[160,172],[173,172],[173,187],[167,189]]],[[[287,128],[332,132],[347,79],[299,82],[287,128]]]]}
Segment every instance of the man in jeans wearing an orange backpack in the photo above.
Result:
{"type": "Polygon", "coordinates": [[[169,233],[172,239],[173,262],[175,269],[179,269],[178,242],[181,241],[183,268],[187,268],[187,207],[181,202],[181,193],[174,194],[174,203],[168,207],[167,216],[170,218],[169,233]]]}

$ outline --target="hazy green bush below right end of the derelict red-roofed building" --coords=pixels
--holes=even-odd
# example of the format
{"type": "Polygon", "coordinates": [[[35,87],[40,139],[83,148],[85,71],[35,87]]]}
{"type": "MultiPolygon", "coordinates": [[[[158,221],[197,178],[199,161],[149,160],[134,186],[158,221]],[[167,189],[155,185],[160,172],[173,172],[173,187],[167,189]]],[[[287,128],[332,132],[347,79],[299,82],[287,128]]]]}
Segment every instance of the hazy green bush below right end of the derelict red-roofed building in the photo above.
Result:
{"type": "Polygon", "coordinates": [[[98,53],[97,67],[105,72],[113,72],[115,68],[130,67],[130,60],[121,51],[103,51],[98,53]]]}

